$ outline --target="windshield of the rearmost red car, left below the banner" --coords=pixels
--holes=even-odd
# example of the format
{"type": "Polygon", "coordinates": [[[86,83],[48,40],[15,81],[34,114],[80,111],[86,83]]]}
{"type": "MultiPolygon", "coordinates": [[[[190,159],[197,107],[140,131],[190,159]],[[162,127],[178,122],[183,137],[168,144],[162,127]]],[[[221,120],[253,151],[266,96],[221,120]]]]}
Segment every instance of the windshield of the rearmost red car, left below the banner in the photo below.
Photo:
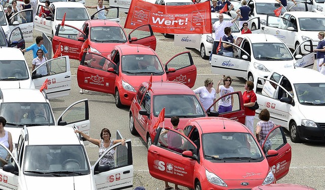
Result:
{"type": "Polygon", "coordinates": [[[123,29],[116,26],[98,26],[90,28],[90,41],[95,43],[126,43],[123,29]]]}

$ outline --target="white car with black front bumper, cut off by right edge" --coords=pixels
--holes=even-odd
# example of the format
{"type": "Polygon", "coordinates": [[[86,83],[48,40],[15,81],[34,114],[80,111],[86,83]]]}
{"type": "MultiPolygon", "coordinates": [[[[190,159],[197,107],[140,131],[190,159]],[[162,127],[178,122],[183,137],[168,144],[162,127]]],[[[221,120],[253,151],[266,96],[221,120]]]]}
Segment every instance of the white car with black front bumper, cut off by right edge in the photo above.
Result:
{"type": "Polygon", "coordinates": [[[276,69],[255,88],[259,109],[270,111],[276,125],[290,131],[293,142],[325,142],[325,76],[313,69],[276,69]]]}

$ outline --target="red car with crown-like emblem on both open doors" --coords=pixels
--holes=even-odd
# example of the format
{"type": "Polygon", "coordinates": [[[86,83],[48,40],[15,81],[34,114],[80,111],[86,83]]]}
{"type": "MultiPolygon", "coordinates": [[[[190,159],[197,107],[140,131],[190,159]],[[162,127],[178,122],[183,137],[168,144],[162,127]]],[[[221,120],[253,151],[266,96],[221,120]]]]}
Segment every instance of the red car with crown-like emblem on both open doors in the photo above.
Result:
{"type": "Polygon", "coordinates": [[[82,89],[114,94],[117,107],[131,105],[140,84],[148,82],[151,74],[152,81],[177,81],[190,88],[197,78],[189,52],[179,53],[163,65],[151,48],[124,44],[115,46],[109,57],[84,53],[77,79],[82,89]]]}

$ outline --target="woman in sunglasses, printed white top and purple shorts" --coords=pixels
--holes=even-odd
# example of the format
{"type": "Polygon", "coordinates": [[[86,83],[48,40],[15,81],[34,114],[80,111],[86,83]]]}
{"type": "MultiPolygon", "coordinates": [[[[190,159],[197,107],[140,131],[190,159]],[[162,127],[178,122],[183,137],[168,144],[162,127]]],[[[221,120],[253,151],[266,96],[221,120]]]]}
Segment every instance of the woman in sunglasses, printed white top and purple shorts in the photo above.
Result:
{"type": "MultiPolygon", "coordinates": [[[[222,82],[222,79],[218,82],[216,93],[219,93],[219,96],[223,96],[225,94],[229,94],[234,92],[234,88],[230,85],[232,84],[233,80],[230,76],[227,76],[223,79],[223,85],[219,86],[222,82]]],[[[234,96],[225,96],[218,102],[218,112],[228,112],[233,110],[234,105],[234,96]]]]}

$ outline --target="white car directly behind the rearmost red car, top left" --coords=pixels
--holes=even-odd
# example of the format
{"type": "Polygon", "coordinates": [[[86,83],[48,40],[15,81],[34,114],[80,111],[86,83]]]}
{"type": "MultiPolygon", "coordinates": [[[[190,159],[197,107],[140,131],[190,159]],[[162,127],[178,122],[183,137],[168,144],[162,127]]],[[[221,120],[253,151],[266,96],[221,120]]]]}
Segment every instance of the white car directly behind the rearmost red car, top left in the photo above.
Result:
{"type": "MultiPolygon", "coordinates": [[[[50,5],[52,8],[52,17],[40,17],[38,14],[41,10],[39,5],[37,14],[34,18],[35,29],[44,32],[47,36],[53,37],[57,25],[61,24],[64,13],[66,19],[64,24],[81,29],[83,23],[90,19],[85,6],[77,2],[54,2],[50,5]]],[[[63,28],[64,30],[64,28],[63,28]]]]}

